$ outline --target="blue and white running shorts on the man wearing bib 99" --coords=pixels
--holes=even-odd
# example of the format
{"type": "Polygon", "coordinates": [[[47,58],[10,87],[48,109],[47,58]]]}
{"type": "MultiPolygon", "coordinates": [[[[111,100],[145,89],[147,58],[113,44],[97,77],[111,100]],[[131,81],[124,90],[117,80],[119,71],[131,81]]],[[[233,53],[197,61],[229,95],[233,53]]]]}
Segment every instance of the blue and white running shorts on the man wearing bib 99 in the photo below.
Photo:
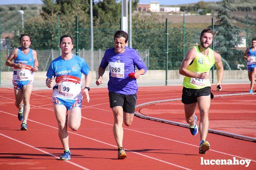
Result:
{"type": "Polygon", "coordinates": [[[57,105],[64,105],[67,110],[73,109],[75,107],[81,108],[82,100],[69,100],[58,97],[52,97],[52,102],[57,105]]]}

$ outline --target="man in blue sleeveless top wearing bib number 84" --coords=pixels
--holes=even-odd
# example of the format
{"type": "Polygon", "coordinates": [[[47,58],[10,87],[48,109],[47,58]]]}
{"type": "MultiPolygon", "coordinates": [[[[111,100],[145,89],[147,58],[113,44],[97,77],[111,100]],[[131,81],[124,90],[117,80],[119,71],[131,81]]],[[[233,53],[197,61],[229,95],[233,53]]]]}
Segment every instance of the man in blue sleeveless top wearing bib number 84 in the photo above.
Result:
{"type": "Polygon", "coordinates": [[[15,106],[19,109],[18,119],[22,121],[21,130],[27,130],[27,119],[30,111],[29,99],[33,88],[34,72],[39,70],[37,53],[30,49],[31,40],[28,34],[20,36],[20,47],[14,49],[5,64],[13,67],[13,87],[15,106]]]}

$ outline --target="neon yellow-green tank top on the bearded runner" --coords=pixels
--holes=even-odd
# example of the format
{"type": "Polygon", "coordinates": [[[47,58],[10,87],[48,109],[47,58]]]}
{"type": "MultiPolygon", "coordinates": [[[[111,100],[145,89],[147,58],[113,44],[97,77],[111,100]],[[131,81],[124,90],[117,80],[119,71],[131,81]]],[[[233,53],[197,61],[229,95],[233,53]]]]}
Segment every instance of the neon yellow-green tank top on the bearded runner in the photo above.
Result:
{"type": "MultiPolygon", "coordinates": [[[[196,49],[196,58],[193,60],[192,64],[187,67],[187,70],[199,74],[203,72],[209,74],[210,69],[215,63],[213,50],[209,48],[208,55],[206,56],[199,51],[198,46],[193,46],[193,48],[196,49]]],[[[183,86],[189,89],[202,89],[211,86],[211,82],[209,79],[198,79],[185,76],[183,86]]]]}

